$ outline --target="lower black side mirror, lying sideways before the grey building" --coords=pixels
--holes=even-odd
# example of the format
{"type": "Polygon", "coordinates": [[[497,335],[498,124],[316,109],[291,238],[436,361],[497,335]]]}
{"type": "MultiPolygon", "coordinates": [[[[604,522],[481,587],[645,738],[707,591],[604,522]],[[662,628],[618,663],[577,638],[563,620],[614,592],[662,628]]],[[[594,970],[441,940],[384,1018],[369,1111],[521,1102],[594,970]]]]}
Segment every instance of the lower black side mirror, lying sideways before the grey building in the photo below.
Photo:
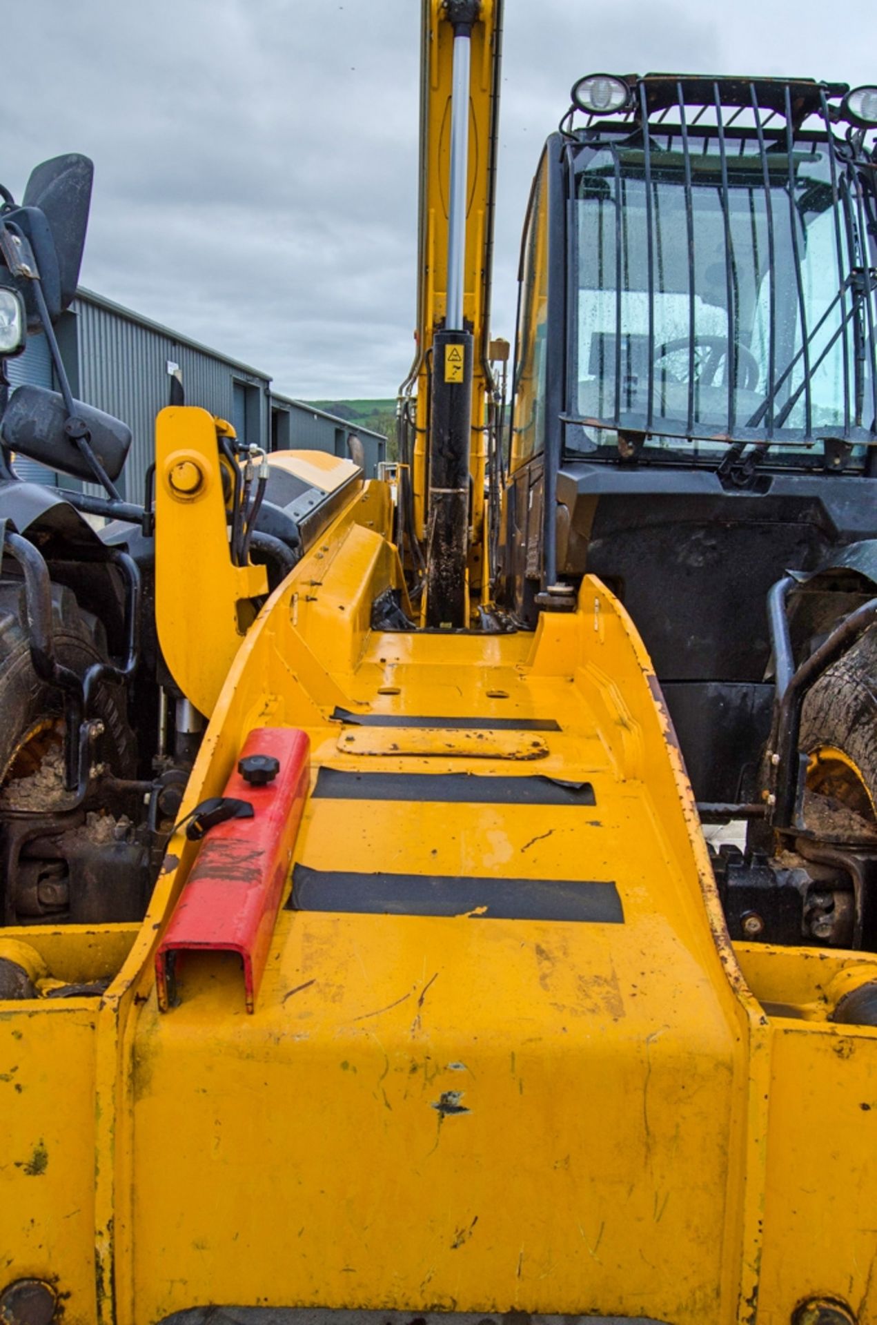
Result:
{"type": "MultiPolygon", "coordinates": [[[[107,477],[118,478],[131,445],[131,429],[121,419],[79,400],[74,400],[74,409],[76,419],[82,420],[89,431],[89,445],[107,477]]],[[[66,421],[68,411],[58,391],[16,387],[0,423],[3,444],[50,469],[94,482],[94,470],[66,432],[66,421]]]]}

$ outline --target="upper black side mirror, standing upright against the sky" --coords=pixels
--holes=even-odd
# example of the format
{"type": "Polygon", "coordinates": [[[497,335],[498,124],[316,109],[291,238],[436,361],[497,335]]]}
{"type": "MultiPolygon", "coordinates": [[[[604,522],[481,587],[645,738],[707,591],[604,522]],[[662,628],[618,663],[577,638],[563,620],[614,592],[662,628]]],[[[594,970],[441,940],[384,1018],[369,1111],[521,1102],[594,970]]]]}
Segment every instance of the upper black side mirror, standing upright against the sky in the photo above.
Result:
{"type": "MultiPolygon", "coordinates": [[[[4,213],[30,242],[52,322],[70,306],[79,282],[93,178],[94,166],[87,156],[78,152],[54,156],[30,172],[21,207],[4,213]]],[[[33,297],[26,289],[23,293],[28,326],[37,329],[40,318],[33,297]]]]}

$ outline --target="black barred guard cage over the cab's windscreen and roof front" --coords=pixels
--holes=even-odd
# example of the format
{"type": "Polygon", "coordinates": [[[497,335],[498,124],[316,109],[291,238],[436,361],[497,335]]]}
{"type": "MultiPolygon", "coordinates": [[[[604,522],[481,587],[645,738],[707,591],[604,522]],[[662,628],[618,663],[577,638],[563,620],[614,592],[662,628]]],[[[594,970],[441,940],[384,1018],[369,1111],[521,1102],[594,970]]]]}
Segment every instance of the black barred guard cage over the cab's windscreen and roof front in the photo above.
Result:
{"type": "Polygon", "coordinates": [[[872,472],[877,154],[840,83],[648,74],[560,130],[567,449],[872,472]]]}

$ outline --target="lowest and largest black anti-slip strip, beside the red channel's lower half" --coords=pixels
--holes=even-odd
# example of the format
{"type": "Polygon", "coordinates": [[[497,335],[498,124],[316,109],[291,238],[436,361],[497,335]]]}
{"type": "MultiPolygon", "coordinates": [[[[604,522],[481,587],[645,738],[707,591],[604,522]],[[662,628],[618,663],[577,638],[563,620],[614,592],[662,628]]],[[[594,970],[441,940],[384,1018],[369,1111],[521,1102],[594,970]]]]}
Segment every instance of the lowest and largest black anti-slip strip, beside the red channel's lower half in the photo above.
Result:
{"type": "Polygon", "coordinates": [[[623,925],[613,882],[563,878],[456,878],[442,874],[358,874],[295,865],[286,910],[371,916],[461,916],[623,925]],[[484,908],[484,910],[480,910],[484,908]]]}

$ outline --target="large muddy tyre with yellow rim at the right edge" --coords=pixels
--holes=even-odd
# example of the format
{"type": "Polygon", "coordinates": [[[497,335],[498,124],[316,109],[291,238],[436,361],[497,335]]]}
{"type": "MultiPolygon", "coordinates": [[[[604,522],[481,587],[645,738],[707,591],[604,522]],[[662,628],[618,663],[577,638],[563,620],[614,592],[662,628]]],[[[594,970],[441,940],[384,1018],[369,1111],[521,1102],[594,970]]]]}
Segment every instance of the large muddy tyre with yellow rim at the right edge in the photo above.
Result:
{"type": "Polygon", "coordinates": [[[877,632],[858,640],[804,700],[800,749],[809,792],[877,822],[877,632]]]}

